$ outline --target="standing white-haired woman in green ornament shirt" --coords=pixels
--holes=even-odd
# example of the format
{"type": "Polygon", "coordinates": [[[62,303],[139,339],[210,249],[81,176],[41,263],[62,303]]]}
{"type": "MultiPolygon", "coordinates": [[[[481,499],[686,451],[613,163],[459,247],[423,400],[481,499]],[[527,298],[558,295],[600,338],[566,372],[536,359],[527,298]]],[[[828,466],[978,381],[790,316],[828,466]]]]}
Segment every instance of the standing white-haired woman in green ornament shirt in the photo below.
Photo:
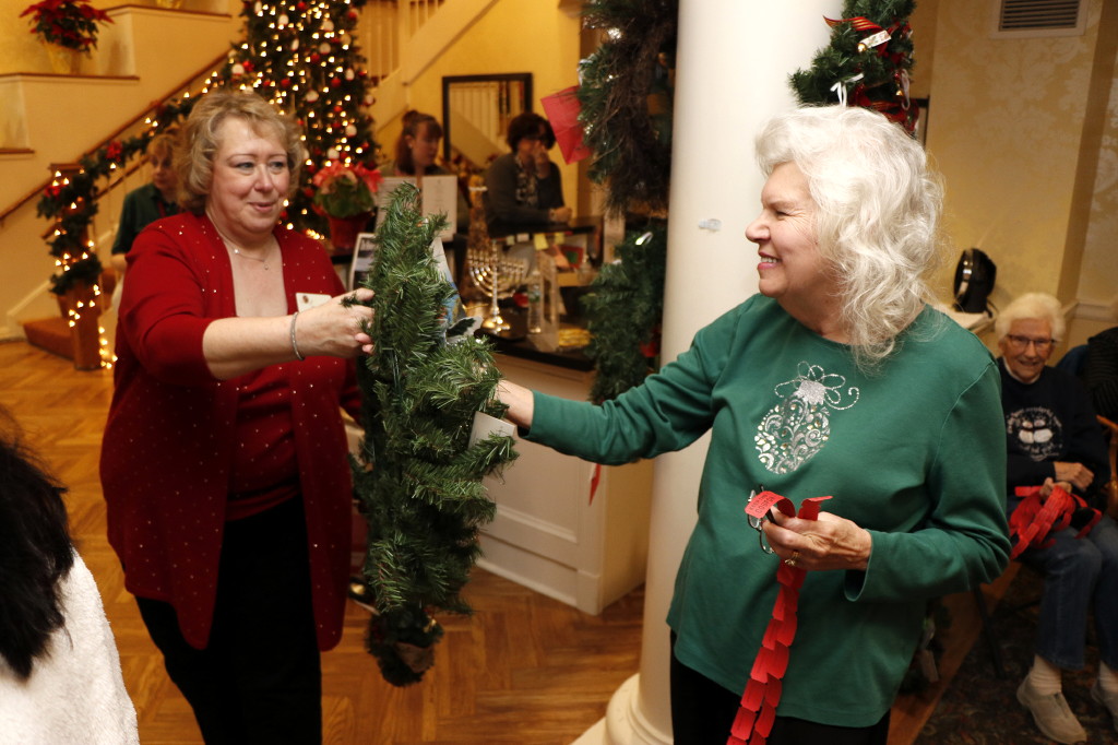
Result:
{"type": "Polygon", "coordinates": [[[926,304],[940,189],[919,144],[880,114],[813,107],[757,151],[759,294],[616,400],[512,384],[502,399],[529,440],[600,463],[711,431],[667,616],[675,742],[727,742],[783,560],[807,573],[768,743],[884,743],[926,601],[1006,564],[997,367],[926,304]],[[818,519],[770,512],[775,556],[743,513],[762,484],[833,497],[818,519]]]}

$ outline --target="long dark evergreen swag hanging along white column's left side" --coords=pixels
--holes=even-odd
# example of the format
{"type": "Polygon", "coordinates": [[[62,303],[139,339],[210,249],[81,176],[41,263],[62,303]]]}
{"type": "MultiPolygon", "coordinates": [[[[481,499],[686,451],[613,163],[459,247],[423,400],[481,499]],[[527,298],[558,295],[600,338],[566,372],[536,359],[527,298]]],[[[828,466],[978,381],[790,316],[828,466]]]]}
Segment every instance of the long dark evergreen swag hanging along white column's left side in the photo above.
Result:
{"type": "Polygon", "coordinates": [[[591,0],[590,28],[605,31],[582,60],[578,100],[589,175],[605,183],[606,211],[641,213],[646,224],[627,232],[584,299],[597,368],[590,399],[614,398],[638,385],[659,356],[672,158],[672,95],[676,0],[591,0]],[[659,217],[657,217],[659,216],[659,217]]]}

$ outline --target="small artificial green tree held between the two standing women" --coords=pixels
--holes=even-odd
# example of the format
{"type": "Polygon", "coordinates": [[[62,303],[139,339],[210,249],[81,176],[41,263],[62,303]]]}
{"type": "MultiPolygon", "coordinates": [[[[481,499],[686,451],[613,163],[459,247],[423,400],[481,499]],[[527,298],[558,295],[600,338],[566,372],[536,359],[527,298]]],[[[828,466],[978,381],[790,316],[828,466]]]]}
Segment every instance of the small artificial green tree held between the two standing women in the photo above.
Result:
{"type": "Polygon", "coordinates": [[[495,511],[482,479],[517,458],[506,435],[470,444],[476,413],[506,409],[494,397],[501,375],[489,343],[467,333],[473,319],[449,324],[456,293],[430,249],[445,221],[425,220],[418,200],[414,186],[399,187],[377,232],[364,285],[376,293],[376,349],[359,368],[364,438],[353,461],[377,611],[368,648],[395,686],[430,666],[442,635],[434,613],[471,612],[459,592],[495,511]]]}

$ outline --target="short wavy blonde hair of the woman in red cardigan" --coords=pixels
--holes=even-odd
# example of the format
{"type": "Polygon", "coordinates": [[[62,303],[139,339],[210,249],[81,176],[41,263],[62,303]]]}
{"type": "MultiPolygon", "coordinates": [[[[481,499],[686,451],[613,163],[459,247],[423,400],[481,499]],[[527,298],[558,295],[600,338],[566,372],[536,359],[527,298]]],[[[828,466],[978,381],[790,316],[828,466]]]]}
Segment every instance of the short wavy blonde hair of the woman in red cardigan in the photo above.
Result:
{"type": "Polygon", "coordinates": [[[211,91],[190,110],[182,126],[179,147],[174,150],[174,171],[179,176],[179,205],[195,214],[206,209],[214,180],[214,157],[220,147],[218,130],[229,117],[248,122],[260,135],[275,135],[287,154],[291,185],[287,197],[299,188],[299,176],[305,159],[303,132],[285,114],[250,92],[211,91]]]}

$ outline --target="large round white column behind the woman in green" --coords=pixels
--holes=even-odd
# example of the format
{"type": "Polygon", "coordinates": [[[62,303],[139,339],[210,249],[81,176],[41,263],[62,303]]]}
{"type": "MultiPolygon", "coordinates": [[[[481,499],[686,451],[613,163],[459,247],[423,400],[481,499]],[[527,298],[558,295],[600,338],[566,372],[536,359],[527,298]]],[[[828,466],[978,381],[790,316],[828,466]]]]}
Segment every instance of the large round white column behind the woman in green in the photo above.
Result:
{"type": "MultiPolygon", "coordinates": [[[[830,39],[823,17],[841,10],[840,0],[680,1],[663,359],[678,357],[695,331],[757,291],[757,251],[745,238],[764,185],[754,135],[795,105],[788,76],[811,66],[830,39]]],[[[579,745],[672,742],[664,620],[695,524],[705,454],[703,437],[656,461],[641,671],[617,689],[606,718],[579,745]]]]}

